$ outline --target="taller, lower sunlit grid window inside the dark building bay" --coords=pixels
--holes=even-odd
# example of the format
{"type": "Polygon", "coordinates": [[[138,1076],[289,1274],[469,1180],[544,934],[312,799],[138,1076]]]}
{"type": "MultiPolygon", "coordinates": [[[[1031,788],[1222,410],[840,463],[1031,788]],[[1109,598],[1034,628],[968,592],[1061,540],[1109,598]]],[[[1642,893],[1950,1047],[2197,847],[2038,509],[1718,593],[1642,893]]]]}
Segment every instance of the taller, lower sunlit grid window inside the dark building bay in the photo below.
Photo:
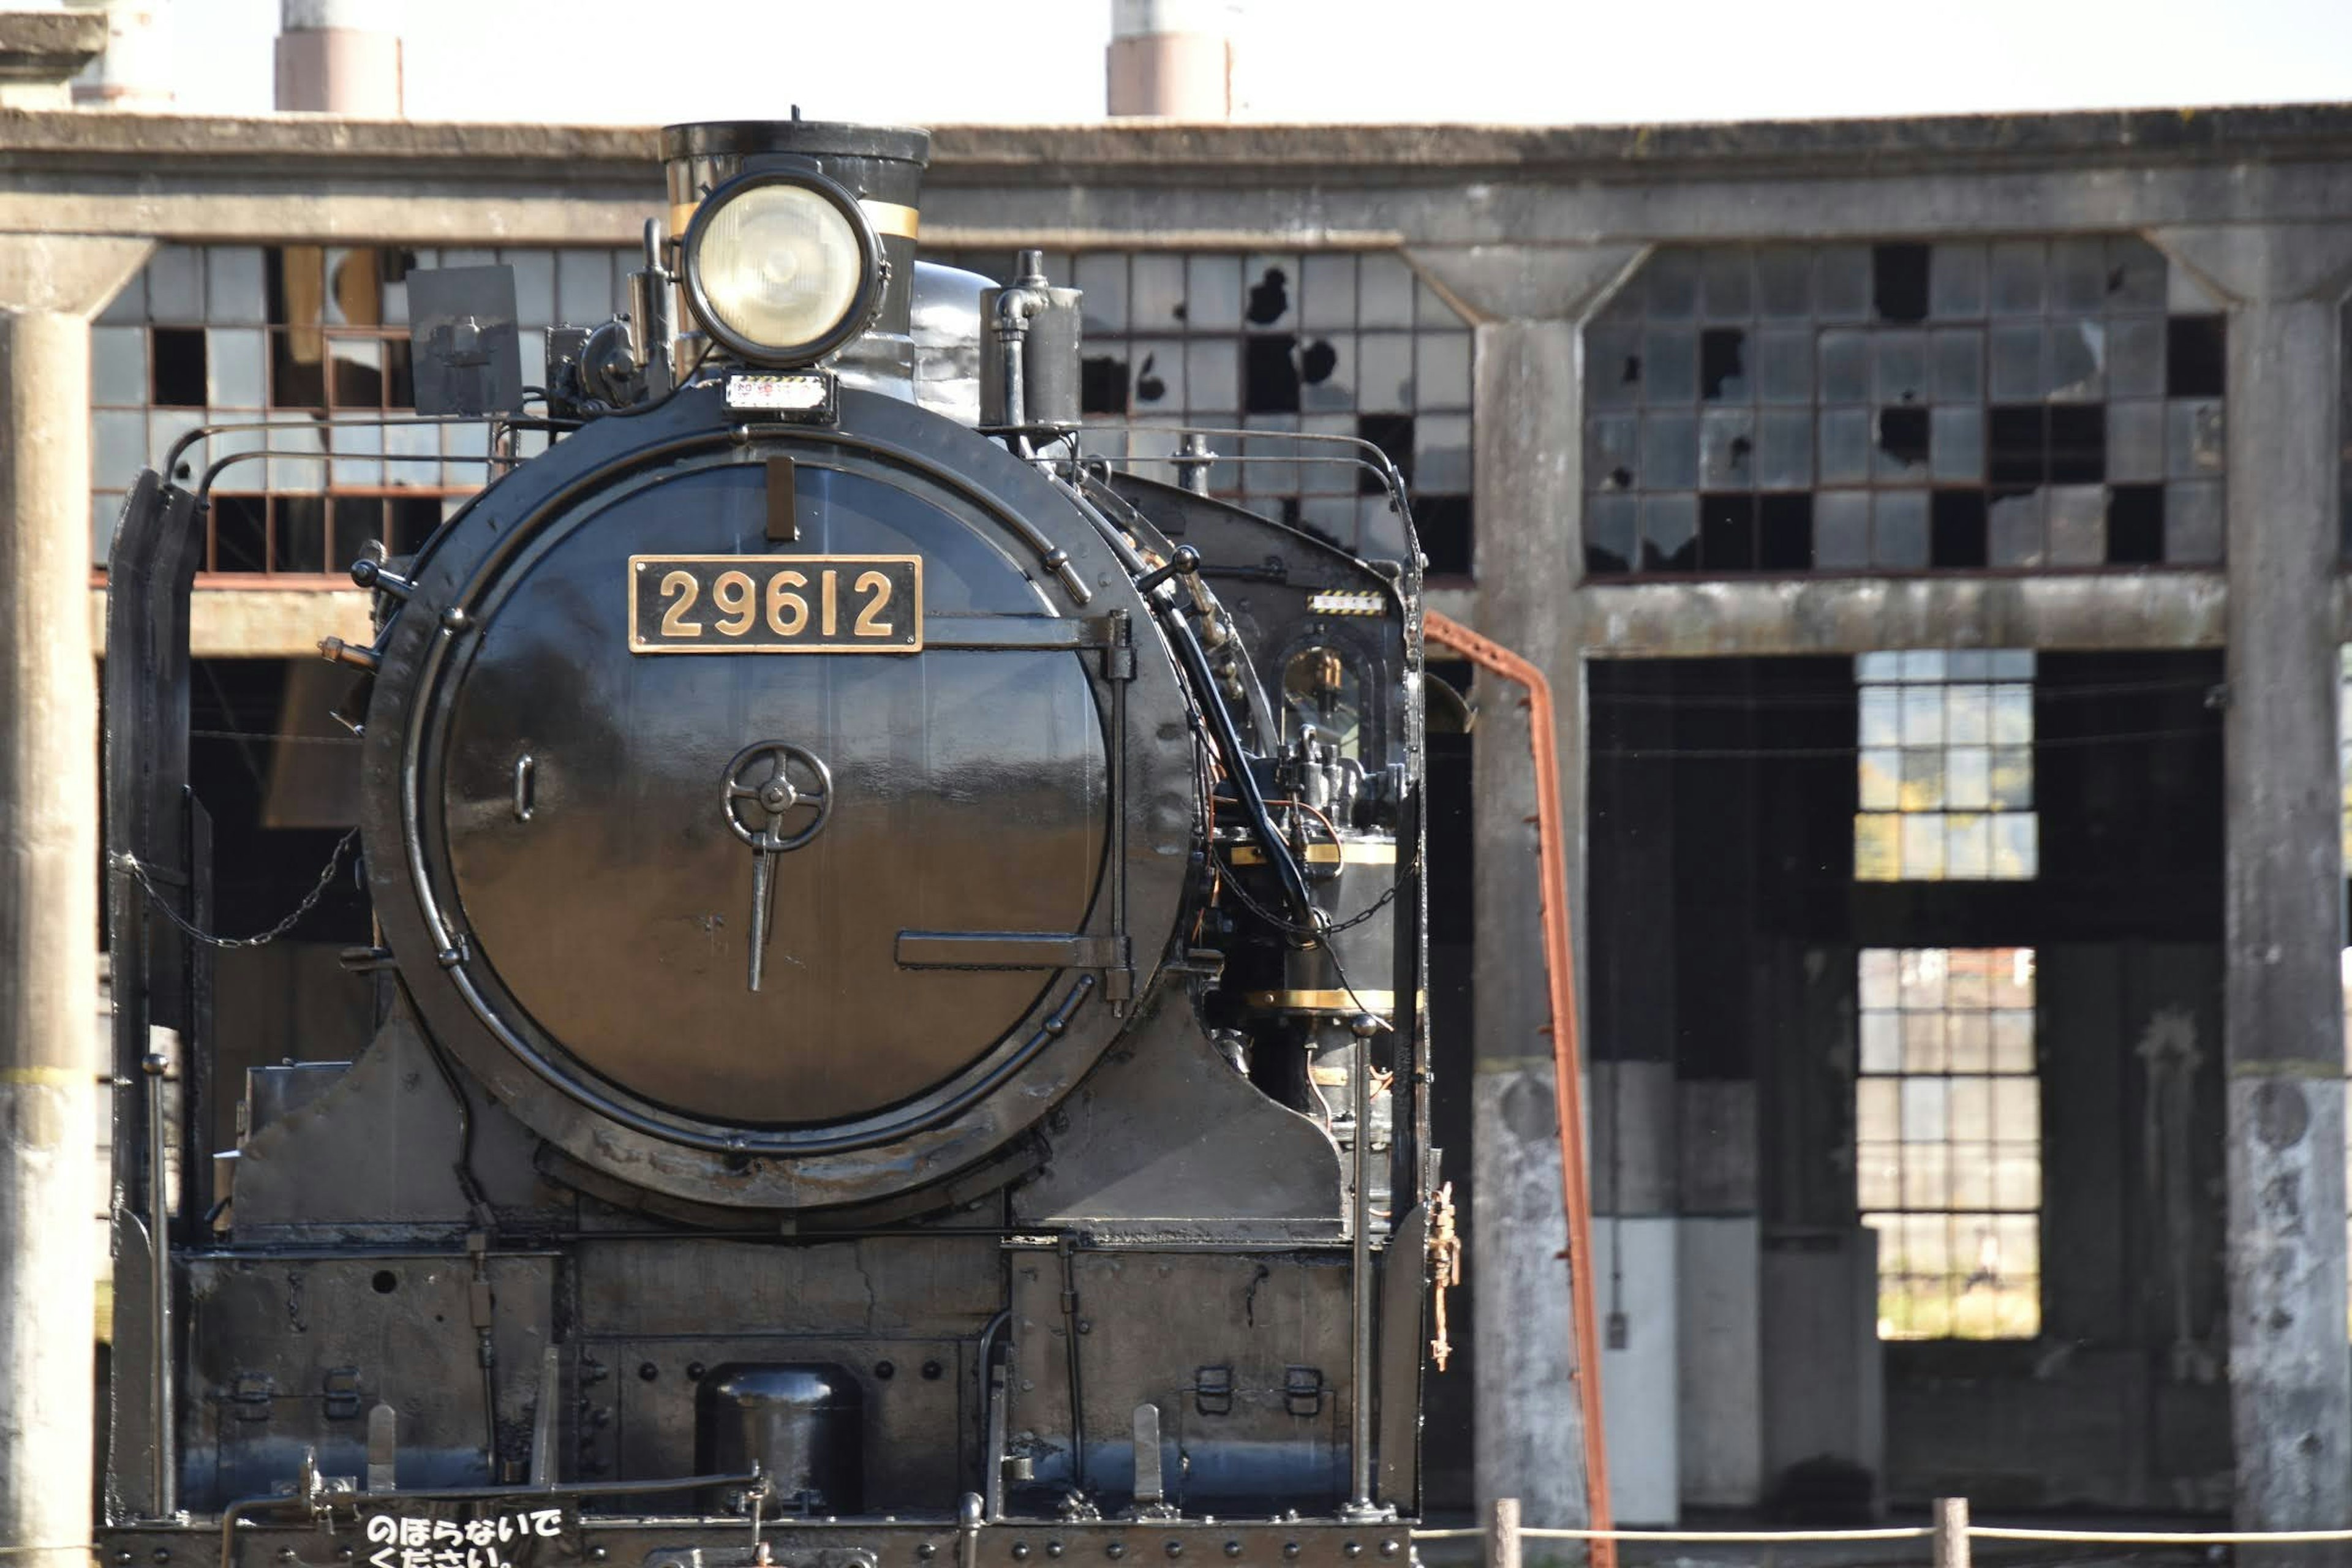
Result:
{"type": "Polygon", "coordinates": [[[2032,947],[1865,947],[1856,1204],[1882,1340],[2042,1331],[2032,947]]]}

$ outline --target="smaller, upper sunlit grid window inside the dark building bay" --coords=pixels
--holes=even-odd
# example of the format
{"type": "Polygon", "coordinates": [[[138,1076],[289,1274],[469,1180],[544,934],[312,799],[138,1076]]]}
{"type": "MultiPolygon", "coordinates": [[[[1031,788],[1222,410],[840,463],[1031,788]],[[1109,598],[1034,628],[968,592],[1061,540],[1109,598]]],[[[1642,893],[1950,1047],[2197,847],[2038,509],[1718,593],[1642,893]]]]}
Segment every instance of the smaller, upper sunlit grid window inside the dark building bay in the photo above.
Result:
{"type": "Polygon", "coordinates": [[[2034,656],[1863,654],[1856,882],[2025,882],[2039,875],[2034,656]]]}

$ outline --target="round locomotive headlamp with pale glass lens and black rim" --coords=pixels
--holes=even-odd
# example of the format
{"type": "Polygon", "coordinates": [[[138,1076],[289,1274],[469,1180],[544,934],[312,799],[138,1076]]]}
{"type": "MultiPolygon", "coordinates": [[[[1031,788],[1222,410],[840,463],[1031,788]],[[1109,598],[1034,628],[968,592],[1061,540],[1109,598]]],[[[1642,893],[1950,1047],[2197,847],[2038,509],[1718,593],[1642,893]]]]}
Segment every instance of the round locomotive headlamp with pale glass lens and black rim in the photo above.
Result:
{"type": "Polygon", "coordinates": [[[882,242],[823,174],[746,174],[687,226],[687,303],[750,364],[814,364],[854,339],[882,294],[882,242]]]}

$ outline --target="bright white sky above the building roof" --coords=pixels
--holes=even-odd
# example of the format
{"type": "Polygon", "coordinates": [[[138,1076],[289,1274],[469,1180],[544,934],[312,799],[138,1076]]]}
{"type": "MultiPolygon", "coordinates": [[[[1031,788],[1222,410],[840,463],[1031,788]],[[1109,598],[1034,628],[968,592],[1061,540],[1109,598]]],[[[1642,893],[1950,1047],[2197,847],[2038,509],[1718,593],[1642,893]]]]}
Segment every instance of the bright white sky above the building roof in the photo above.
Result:
{"type": "MultiPolygon", "coordinates": [[[[393,0],[421,120],[1103,113],[1110,0],[393,0]]],[[[278,0],[176,0],[179,106],[270,108],[278,0]]],[[[1258,120],[1522,125],[2352,99],[2352,0],[1247,0],[1258,120]]]]}

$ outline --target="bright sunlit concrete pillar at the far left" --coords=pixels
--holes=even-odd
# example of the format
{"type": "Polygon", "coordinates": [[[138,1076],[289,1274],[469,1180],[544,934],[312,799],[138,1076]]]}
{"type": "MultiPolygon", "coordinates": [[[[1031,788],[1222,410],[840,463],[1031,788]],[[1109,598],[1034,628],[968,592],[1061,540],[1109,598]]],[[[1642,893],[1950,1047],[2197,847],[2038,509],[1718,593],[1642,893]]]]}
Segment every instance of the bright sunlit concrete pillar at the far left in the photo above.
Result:
{"type": "Polygon", "coordinates": [[[89,1563],[99,693],[89,315],[143,240],[0,237],[0,1542],[89,1563]]]}

